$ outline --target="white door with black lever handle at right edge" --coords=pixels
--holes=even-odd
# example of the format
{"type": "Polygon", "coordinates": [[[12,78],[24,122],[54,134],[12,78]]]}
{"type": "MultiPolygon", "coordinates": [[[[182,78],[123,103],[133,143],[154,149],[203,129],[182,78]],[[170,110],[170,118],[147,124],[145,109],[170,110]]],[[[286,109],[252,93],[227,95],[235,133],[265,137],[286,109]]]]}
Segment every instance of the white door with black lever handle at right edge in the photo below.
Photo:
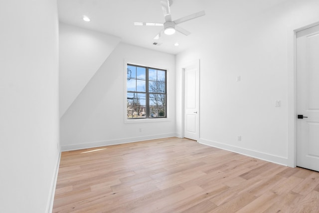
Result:
{"type": "Polygon", "coordinates": [[[297,166],[319,171],[319,25],[297,32],[297,166]]]}

